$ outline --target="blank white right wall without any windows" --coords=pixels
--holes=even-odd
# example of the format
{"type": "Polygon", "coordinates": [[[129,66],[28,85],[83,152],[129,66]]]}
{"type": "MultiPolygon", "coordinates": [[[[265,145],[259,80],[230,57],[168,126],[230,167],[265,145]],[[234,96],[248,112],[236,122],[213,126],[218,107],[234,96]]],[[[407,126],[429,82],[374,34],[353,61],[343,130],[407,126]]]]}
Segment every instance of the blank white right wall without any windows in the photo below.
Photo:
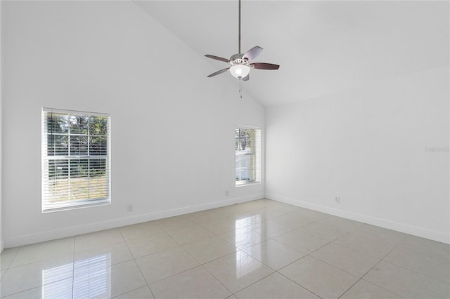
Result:
{"type": "Polygon", "coordinates": [[[266,197],[449,243],[449,67],[267,107],[266,197]]]}

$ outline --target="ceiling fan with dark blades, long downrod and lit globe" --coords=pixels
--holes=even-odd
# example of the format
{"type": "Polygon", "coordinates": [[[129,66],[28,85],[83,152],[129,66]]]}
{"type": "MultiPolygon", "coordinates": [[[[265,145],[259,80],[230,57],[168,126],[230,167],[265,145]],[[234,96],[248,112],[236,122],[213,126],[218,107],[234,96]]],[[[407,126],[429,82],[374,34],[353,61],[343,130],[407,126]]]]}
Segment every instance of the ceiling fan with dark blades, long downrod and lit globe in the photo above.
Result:
{"type": "Polygon", "coordinates": [[[278,69],[279,65],[274,65],[272,63],[265,62],[250,62],[257,58],[259,54],[262,52],[262,48],[260,46],[255,46],[247,51],[245,54],[240,53],[240,0],[239,0],[239,46],[238,53],[231,56],[230,59],[221,58],[219,56],[214,55],[205,55],[207,58],[212,58],[215,60],[220,60],[223,62],[229,63],[231,66],[226,67],[225,69],[221,69],[217,72],[210,74],[207,77],[214,77],[218,74],[224,73],[226,71],[230,71],[231,75],[240,81],[248,81],[250,79],[249,73],[250,69],[278,69]]]}

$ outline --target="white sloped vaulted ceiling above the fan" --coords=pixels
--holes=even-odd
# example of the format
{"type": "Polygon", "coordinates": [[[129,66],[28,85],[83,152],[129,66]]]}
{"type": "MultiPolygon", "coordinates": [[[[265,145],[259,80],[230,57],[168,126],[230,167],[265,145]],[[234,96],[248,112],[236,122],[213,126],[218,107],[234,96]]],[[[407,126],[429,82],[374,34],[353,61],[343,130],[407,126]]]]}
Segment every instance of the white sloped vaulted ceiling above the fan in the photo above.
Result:
{"type": "MultiPolygon", "coordinates": [[[[135,3],[198,55],[238,53],[237,0],[135,3]]],[[[243,88],[255,99],[316,98],[449,65],[449,1],[243,0],[241,50],[252,46],[264,48],[255,62],[281,65],[250,72],[243,88]]],[[[227,66],[208,62],[210,73],[227,66]]]]}

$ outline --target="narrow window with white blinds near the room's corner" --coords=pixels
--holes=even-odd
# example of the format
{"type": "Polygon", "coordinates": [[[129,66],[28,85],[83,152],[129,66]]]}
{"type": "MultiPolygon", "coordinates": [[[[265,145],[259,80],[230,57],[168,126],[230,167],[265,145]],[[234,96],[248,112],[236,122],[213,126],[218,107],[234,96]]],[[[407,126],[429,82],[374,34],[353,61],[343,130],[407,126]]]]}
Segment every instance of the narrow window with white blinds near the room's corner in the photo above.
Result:
{"type": "Polygon", "coordinates": [[[236,128],[236,186],[261,179],[261,130],[236,128]]]}

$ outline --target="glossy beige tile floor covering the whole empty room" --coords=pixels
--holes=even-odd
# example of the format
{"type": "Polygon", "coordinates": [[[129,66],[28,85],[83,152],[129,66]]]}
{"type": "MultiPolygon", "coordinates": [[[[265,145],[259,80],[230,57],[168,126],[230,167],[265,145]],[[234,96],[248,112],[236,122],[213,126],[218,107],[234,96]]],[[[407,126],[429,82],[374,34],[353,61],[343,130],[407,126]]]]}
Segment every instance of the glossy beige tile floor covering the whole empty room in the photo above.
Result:
{"type": "Polygon", "coordinates": [[[450,298],[450,248],[261,199],[1,253],[1,298],[450,298]]]}

